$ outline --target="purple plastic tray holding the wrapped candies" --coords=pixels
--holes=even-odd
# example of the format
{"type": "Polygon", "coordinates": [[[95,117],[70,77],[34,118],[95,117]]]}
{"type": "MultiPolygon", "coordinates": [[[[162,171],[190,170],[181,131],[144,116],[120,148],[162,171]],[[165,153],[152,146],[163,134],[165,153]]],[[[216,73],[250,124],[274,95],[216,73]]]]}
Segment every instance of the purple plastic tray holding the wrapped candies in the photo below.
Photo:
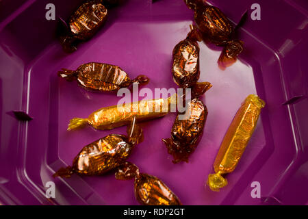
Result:
{"type": "MultiPolygon", "coordinates": [[[[103,177],[53,179],[70,165],[79,150],[109,133],[91,128],[67,132],[68,120],[115,105],[114,94],[86,92],[57,77],[60,68],[86,62],[121,66],[131,77],[151,77],[147,88],[177,88],[170,72],[175,44],[185,38],[192,11],[183,0],[129,0],[110,13],[92,40],[67,55],[55,39],[56,21],[45,19],[54,3],[67,19],[81,1],[19,0],[0,2],[0,203],[4,205],[138,205],[133,181],[103,177]],[[18,122],[12,111],[34,118],[18,122]],[[55,182],[55,198],[45,197],[47,181],[55,182]]],[[[240,60],[220,70],[220,48],[201,47],[201,78],[213,88],[203,96],[209,115],[203,138],[188,164],[172,164],[162,138],[170,136],[175,114],[142,123],[145,140],[129,161],[142,172],[162,179],[184,205],[308,204],[307,8],[305,0],[216,0],[237,23],[251,5],[261,5],[261,21],[250,18],[242,29],[240,60]],[[220,192],[205,187],[220,142],[240,103],[256,93],[266,101],[257,129],[220,192]],[[252,198],[259,181],[261,198],[252,198]]]]}

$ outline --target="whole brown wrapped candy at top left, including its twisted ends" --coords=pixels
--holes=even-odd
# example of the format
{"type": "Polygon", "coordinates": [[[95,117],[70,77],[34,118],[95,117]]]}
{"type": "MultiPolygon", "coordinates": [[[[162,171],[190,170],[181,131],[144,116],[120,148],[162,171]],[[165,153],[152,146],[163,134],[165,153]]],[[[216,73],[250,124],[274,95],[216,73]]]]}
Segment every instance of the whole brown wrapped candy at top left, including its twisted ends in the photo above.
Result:
{"type": "Polygon", "coordinates": [[[64,33],[60,43],[66,53],[72,53],[77,48],[77,41],[89,40],[104,25],[108,9],[120,3],[120,0],[92,0],[84,2],[64,23],[64,33]]]}

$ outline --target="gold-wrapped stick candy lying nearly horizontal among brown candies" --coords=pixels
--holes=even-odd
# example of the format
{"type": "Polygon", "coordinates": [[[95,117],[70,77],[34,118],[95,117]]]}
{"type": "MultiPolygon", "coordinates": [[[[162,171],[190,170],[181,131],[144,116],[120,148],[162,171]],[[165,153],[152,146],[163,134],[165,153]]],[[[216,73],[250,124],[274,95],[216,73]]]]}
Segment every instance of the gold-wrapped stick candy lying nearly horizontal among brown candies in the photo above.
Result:
{"type": "Polygon", "coordinates": [[[133,117],[138,122],[151,120],[165,116],[170,112],[172,106],[177,104],[177,94],[173,94],[168,99],[142,100],[123,105],[103,107],[88,118],[73,118],[68,124],[68,131],[80,129],[86,125],[91,125],[94,129],[114,129],[131,123],[133,117]]]}

